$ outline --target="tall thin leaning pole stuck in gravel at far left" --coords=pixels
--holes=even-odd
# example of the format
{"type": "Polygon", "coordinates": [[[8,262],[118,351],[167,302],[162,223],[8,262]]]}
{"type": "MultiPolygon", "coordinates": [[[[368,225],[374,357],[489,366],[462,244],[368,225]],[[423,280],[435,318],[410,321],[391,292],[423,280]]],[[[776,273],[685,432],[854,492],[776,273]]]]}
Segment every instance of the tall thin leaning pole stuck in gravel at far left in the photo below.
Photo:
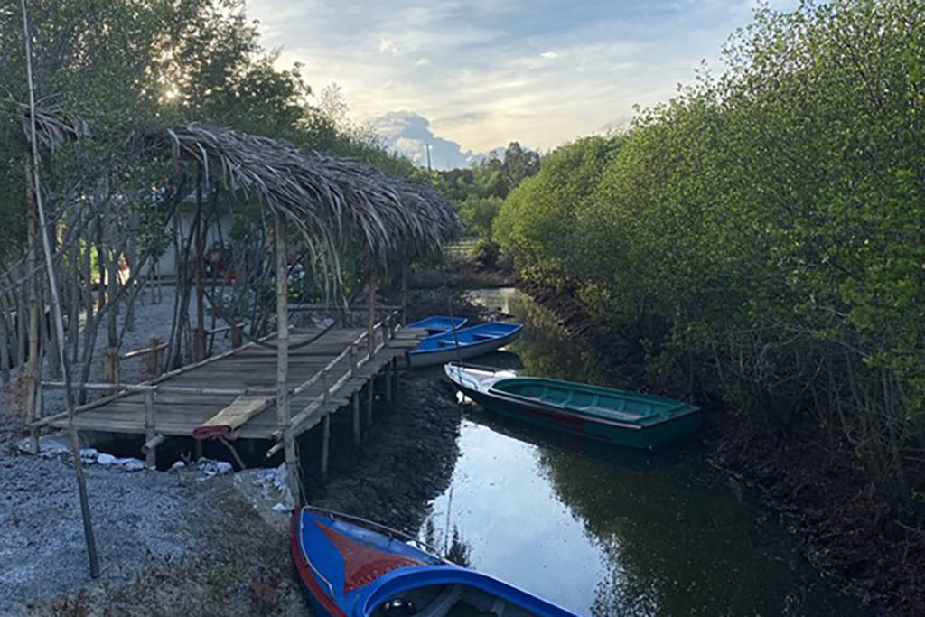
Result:
{"type": "Polygon", "coordinates": [[[22,6],[22,29],[26,42],[26,76],[29,81],[29,110],[30,133],[32,142],[32,180],[35,186],[35,207],[38,211],[39,226],[42,230],[42,247],[45,254],[45,271],[48,276],[48,288],[51,293],[52,313],[55,317],[55,334],[58,339],[58,361],[61,363],[61,373],[65,381],[65,404],[68,409],[68,433],[70,434],[70,451],[74,463],[74,473],[77,478],[78,496],[80,499],[80,514],[83,519],[83,535],[87,544],[87,554],[90,558],[90,574],[93,578],[100,575],[100,563],[96,554],[96,539],[93,537],[93,523],[90,520],[90,503],[87,498],[87,484],[83,476],[83,464],[80,462],[80,443],[77,437],[77,427],[74,424],[74,392],[70,384],[70,365],[65,355],[64,345],[64,318],[61,315],[61,304],[58,298],[57,275],[52,260],[51,242],[48,239],[48,227],[42,203],[42,182],[39,179],[39,144],[35,127],[35,88],[32,83],[31,34],[29,31],[29,17],[26,11],[26,0],[20,0],[22,6]]]}

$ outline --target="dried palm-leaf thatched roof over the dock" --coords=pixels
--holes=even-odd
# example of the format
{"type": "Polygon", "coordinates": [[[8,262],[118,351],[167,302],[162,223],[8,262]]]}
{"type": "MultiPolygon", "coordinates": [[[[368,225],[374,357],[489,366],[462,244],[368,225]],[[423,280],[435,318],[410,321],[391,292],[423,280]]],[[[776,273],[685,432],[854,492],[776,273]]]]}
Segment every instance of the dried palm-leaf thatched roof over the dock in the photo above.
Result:
{"type": "MultiPolygon", "coordinates": [[[[86,123],[37,114],[43,141],[88,135],[86,123]]],[[[139,131],[135,154],[201,166],[231,191],[256,194],[300,230],[316,254],[337,265],[345,234],[357,234],[381,264],[437,253],[459,236],[456,210],[434,188],[346,158],[303,152],[290,142],[198,123],[139,131]]]]}

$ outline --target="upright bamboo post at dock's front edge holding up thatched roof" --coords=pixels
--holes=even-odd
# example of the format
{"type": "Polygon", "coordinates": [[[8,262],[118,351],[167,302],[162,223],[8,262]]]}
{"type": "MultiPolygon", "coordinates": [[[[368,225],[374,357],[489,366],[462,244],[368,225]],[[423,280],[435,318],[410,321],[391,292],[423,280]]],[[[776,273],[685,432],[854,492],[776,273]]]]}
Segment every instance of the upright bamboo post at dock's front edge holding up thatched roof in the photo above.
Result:
{"type": "MultiPolygon", "coordinates": [[[[286,451],[286,471],[292,499],[298,503],[299,467],[295,458],[295,438],[290,423],[289,399],[289,290],[286,264],[286,225],[279,213],[273,213],[277,262],[277,425],[282,430],[286,451]]],[[[293,504],[295,505],[295,504],[293,504]]]]}

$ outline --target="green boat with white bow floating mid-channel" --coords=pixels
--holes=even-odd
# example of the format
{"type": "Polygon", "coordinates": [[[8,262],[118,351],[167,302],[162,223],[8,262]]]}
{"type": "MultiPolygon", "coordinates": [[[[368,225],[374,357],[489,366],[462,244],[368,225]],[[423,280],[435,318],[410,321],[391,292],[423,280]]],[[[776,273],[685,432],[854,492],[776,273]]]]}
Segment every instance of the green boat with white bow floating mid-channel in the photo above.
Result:
{"type": "Polygon", "coordinates": [[[703,424],[697,405],[651,394],[465,364],[446,364],[444,372],[464,396],[490,412],[620,446],[651,448],[703,424]]]}

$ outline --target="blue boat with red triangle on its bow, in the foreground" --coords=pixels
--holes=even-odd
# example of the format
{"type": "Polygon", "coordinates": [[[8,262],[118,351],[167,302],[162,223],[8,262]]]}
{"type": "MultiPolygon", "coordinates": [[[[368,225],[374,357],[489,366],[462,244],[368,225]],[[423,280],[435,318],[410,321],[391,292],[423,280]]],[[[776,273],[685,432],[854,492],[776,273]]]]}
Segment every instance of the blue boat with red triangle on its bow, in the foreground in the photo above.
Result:
{"type": "Polygon", "coordinates": [[[310,506],[292,513],[292,559],[320,615],[574,617],[523,589],[343,516],[310,506]]]}

